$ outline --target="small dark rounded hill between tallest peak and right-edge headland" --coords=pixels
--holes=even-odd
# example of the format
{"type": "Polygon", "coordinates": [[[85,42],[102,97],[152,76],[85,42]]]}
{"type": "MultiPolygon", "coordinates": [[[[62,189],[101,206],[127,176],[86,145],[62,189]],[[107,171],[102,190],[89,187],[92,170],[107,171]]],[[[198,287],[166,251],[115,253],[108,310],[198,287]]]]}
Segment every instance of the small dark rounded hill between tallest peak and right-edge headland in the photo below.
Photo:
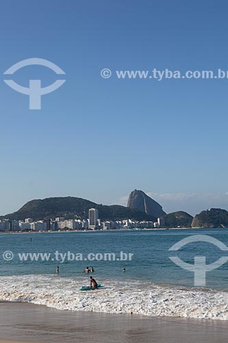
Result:
{"type": "Polygon", "coordinates": [[[166,221],[166,226],[168,228],[190,228],[192,224],[193,217],[192,215],[183,212],[177,211],[173,213],[169,213],[164,217],[166,221]]]}

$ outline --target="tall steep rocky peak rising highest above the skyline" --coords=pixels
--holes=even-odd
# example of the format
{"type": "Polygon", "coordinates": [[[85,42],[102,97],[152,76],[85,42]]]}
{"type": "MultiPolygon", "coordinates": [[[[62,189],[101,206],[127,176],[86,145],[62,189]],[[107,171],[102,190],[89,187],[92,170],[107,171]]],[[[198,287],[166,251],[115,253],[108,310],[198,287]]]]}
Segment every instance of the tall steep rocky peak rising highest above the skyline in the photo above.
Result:
{"type": "Polygon", "coordinates": [[[131,192],[128,198],[127,207],[129,209],[138,209],[152,215],[153,217],[163,217],[166,213],[163,211],[162,206],[155,200],[147,196],[143,191],[135,189],[131,192]]]}

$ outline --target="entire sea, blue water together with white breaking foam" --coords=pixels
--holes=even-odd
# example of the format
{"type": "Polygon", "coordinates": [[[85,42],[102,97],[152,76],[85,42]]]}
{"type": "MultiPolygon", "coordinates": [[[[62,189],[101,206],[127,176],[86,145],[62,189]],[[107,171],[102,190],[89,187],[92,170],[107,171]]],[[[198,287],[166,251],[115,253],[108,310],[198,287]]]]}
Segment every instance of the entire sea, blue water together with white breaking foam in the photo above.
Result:
{"type": "MultiPolygon", "coordinates": [[[[0,300],[25,301],[58,309],[134,313],[147,316],[228,319],[228,262],[207,272],[205,287],[194,287],[194,273],[175,265],[203,256],[214,263],[228,252],[214,244],[195,241],[179,251],[169,248],[191,235],[214,237],[228,246],[228,229],[134,230],[78,233],[0,235],[0,300]],[[4,255],[10,261],[3,259],[4,255]],[[55,252],[66,254],[64,262],[55,252]],[[120,253],[133,254],[120,261],[120,253]],[[68,255],[69,253],[70,255],[68,255]],[[88,261],[88,254],[114,253],[115,261],[88,261]],[[18,254],[50,254],[49,261],[21,261],[18,254]],[[83,258],[73,261],[73,255],[83,258]],[[81,255],[79,255],[81,254],[81,255]],[[67,257],[70,257],[70,260],[67,257]],[[60,274],[55,274],[56,266],[60,274]],[[88,285],[86,266],[103,288],[80,292],[88,285]],[[127,272],[123,273],[123,268],[127,272]]],[[[92,256],[94,256],[92,255],[92,256]]]]}

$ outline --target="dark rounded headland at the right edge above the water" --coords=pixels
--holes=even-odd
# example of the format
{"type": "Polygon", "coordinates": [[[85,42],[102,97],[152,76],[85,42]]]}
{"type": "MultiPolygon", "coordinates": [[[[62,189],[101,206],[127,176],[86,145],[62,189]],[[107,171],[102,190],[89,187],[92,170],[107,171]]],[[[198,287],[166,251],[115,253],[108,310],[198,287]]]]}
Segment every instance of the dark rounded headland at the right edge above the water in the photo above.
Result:
{"type": "Polygon", "coordinates": [[[192,220],[192,228],[227,228],[228,212],[223,209],[202,211],[192,220]]]}

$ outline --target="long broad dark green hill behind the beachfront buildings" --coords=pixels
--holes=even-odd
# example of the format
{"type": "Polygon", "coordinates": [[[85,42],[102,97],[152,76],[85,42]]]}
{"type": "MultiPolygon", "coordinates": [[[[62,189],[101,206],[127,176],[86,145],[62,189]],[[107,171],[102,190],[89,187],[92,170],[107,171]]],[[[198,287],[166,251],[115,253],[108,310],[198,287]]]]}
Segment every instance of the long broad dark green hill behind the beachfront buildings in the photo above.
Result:
{"type": "Polygon", "coordinates": [[[106,206],[75,197],[31,200],[18,211],[4,215],[0,219],[25,220],[25,218],[33,218],[33,220],[43,220],[45,217],[86,219],[88,218],[88,210],[92,207],[98,209],[101,220],[125,220],[128,218],[132,220],[155,220],[153,216],[137,209],[129,209],[119,205],[106,206]]]}

